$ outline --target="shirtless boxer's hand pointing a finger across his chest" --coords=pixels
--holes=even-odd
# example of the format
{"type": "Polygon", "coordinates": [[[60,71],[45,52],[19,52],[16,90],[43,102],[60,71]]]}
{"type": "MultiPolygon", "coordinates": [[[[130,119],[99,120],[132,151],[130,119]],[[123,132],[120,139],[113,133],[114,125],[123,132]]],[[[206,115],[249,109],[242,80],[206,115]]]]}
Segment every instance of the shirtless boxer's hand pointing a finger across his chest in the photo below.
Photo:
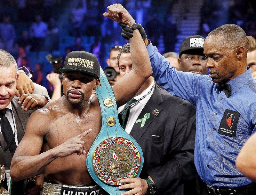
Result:
{"type": "Polygon", "coordinates": [[[77,153],[77,155],[85,154],[85,142],[81,139],[83,139],[84,136],[89,134],[91,131],[92,129],[89,129],[82,134],[70,138],[59,146],[52,148],[56,152],[56,156],[62,158],[74,153],[77,153]]]}

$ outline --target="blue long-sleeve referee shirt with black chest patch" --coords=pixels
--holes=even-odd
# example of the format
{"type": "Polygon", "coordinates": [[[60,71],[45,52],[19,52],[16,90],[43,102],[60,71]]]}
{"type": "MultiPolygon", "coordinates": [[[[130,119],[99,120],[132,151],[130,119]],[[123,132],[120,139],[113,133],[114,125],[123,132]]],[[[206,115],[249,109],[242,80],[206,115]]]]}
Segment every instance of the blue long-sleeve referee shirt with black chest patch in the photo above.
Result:
{"type": "Polygon", "coordinates": [[[169,93],[196,105],[195,166],[208,185],[238,187],[252,183],[235,166],[236,157],[256,127],[256,81],[251,70],[228,81],[226,97],[208,75],[176,71],[157,48],[147,46],[153,76],[169,93]]]}

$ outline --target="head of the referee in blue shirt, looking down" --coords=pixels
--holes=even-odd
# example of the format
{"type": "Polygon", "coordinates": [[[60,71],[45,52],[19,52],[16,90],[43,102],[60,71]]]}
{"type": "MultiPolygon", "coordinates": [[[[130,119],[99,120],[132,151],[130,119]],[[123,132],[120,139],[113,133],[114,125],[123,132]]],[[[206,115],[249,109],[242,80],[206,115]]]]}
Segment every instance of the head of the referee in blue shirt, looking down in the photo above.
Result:
{"type": "Polygon", "coordinates": [[[222,25],[210,32],[204,41],[204,54],[212,81],[224,84],[246,72],[247,50],[246,34],[237,25],[222,25]]]}

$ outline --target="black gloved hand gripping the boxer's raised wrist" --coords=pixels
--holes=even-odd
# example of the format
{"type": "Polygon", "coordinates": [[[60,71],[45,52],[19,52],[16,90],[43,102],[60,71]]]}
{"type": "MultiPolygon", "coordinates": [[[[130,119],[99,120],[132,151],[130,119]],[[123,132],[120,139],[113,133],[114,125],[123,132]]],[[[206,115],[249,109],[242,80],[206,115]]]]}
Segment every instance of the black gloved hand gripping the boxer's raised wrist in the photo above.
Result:
{"type": "Polygon", "coordinates": [[[132,28],[126,27],[126,24],[124,24],[124,23],[119,23],[119,25],[122,27],[122,34],[121,34],[121,36],[124,37],[124,39],[129,40],[133,36],[133,30],[135,30],[135,29],[139,30],[140,35],[141,35],[143,40],[148,38],[144,28],[139,23],[133,24],[132,28]]]}

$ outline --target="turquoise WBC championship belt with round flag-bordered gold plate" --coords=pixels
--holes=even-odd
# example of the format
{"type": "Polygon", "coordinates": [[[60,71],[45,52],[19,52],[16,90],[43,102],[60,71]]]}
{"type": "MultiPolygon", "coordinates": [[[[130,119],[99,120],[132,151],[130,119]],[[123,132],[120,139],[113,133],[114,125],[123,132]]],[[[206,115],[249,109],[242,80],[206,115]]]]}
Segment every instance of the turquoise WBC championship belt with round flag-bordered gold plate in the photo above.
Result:
{"type": "Polygon", "coordinates": [[[86,165],[93,180],[111,195],[121,179],[139,177],[143,153],[139,144],[121,127],[114,93],[100,68],[100,84],[95,90],[100,103],[102,127],[87,154],[86,165]]]}

